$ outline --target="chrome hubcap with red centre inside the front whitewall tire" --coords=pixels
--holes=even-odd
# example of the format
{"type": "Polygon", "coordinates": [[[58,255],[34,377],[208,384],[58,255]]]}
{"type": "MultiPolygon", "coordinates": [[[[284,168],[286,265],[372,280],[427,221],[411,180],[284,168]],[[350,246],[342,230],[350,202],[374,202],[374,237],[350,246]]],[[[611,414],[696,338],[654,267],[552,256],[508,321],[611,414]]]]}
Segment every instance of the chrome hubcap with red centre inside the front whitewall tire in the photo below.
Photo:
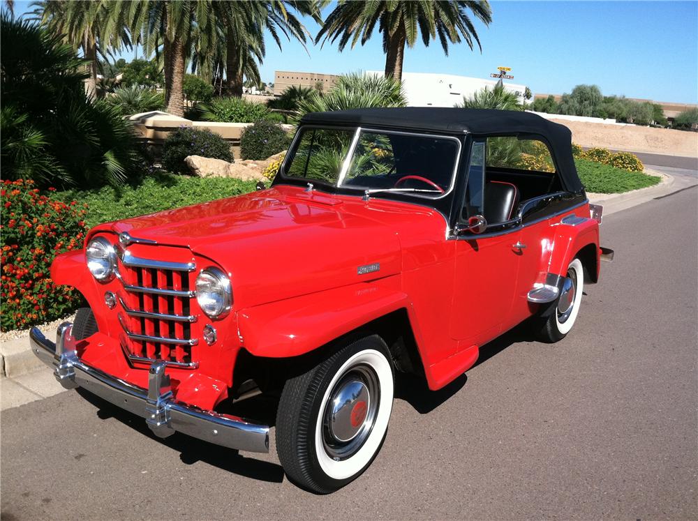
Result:
{"type": "Polygon", "coordinates": [[[367,365],[350,368],[329,394],[322,441],[334,460],[354,455],[371,434],[378,412],[378,376],[367,365]]]}

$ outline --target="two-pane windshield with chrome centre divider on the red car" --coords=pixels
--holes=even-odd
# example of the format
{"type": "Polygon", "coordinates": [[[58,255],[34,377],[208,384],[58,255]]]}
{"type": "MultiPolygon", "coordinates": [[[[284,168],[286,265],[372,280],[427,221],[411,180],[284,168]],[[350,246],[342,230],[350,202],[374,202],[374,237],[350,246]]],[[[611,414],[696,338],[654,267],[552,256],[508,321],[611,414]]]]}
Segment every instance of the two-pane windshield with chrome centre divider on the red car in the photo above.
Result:
{"type": "Polygon", "coordinates": [[[369,192],[440,197],[452,184],[454,137],[337,128],[302,128],[285,176],[369,192]]]}

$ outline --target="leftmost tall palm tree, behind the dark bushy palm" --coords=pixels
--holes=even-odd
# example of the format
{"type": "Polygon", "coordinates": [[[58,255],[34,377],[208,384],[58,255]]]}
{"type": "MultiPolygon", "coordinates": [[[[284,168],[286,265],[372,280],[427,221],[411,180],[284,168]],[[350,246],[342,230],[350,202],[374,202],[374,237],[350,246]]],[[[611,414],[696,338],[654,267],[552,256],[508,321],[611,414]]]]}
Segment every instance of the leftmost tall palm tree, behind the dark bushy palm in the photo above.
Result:
{"type": "Polygon", "coordinates": [[[53,33],[82,50],[87,60],[88,77],[85,91],[89,98],[97,95],[98,54],[131,47],[124,3],[114,0],[39,1],[34,13],[53,33]]]}

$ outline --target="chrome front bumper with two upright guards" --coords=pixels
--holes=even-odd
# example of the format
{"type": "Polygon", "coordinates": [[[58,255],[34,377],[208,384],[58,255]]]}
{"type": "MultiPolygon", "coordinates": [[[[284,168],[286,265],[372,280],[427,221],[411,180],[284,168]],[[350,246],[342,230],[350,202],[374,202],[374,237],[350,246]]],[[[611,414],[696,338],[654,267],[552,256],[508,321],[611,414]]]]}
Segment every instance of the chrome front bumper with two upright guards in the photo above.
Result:
{"type": "Polygon", "coordinates": [[[165,361],[151,364],[147,389],[87,365],[77,356],[75,339],[70,334],[72,329],[70,322],[61,324],[55,344],[36,328],[29,332],[31,350],[40,361],[54,368],[54,376],[66,389],[82,387],[121,409],[138,414],[161,438],[184,432],[240,451],[269,452],[267,425],[255,425],[242,418],[204,411],[174,400],[170,377],[165,374],[165,361]]]}

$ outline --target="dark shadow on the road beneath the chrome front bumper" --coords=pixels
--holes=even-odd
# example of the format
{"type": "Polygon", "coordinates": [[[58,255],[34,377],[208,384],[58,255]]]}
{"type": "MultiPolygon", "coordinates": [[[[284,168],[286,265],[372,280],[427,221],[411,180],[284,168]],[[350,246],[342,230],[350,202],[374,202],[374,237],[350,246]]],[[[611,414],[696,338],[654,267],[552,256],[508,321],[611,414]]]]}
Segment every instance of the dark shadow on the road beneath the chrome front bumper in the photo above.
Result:
{"type": "Polygon", "coordinates": [[[258,460],[254,457],[246,458],[232,448],[210,444],[193,437],[175,432],[167,438],[159,438],[154,435],[145,421],[131,412],[120,409],[110,402],[99,398],[82,388],[77,389],[82,398],[98,408],[97,416],[103,420],[114,418],[140,435],[145,435],[159,443],[179,452],[179,459],[185,465],[193,465],[196,462],[203,462],[218,469],[239,474],[246,478],[269,481],[271,483],[281,483],[283,481],[283,469],[276,463],[258,460]]]}

